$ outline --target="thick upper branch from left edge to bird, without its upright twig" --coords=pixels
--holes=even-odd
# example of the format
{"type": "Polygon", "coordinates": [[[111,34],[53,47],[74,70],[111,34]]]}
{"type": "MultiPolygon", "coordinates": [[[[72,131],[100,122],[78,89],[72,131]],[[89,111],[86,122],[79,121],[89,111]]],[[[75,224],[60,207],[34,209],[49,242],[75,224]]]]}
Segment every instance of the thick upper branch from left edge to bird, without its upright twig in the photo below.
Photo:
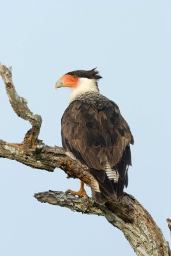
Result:
{"type": "Polygon", "coordinates": [[[16,160],[32,168],[48,172],[53,172],[56,167],[61,168],[68,177],[81,179],[87,186],[91,186],[89,168],[74,159],[61,147],[48,147],[38,140],[36,147],[23,150],[22,144],[0,140],[0,157],[16,160]]]}

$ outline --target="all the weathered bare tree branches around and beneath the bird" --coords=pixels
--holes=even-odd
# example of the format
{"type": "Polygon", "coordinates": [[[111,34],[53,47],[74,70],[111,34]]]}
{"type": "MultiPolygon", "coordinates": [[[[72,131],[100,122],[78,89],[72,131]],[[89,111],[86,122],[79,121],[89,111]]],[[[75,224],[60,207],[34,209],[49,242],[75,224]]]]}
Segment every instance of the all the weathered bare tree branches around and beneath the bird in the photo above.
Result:
{"type": "MultiPolygon", "coordinates": [[[[87,186],[91,186],[91,173],[87,166],[81,164],[64,148],[49,147],[38,140],[41,116],[34,115],[27,107],[27,100],[17,94],[11,78],[11,68],[0,64],[0,74],[13,110],[32,125],[22,143],[0,140],[0,157],[48,172],[53,172],[56,167],[61,168],[68,177],[83,180],[87,186]]],[[[36,193],[34,197],[40,202],[67,207],[72,211],[104,216],[124,233],[137,255],[171,256],[168,242],[165,241],[160,228],[149,212],[131,195],[125,193],[121,204],[108,201],[105,205],[96,204],[93,198],[78,198],[58,191],[36,193]]],[[[167,221],[170,228],[170,220],[167,221]]]]}

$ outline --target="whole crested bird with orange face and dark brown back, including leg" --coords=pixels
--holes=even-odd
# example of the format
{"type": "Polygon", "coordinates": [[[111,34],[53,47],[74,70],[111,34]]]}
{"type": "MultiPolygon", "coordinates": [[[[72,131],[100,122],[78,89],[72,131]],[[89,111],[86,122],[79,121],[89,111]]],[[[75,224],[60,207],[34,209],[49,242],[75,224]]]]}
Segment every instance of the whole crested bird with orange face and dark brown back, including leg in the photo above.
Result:
{"type": "MultiPolygon", "coordinates": [[[[102,77],[96,68],[64,74],[56,88],[71,88],[69,105],[61,119],[63,148],[73,154],[91,173],[92,197],[98,204],[121,202],[128,186],[133,135],[114,101],[100,93],[102,77]]],[[[84,182],[79,191],[66,193],[87,197],[84,182]]]]}

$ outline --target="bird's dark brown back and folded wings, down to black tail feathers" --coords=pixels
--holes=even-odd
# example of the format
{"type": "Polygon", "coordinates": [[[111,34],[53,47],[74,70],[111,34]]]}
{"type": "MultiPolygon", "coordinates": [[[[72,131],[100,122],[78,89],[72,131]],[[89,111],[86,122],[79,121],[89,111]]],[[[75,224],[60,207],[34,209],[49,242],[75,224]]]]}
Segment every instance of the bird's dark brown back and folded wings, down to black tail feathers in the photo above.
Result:
{"type": "Polygon", "coordinates": [[[62,118],[62,141],[66,150],[94,170],[94,177],[106,193],[109,185],[104,182],[107,177],[105,172],[101,175],[98,170],[105,170],[104,159],[107,159],[110,167],[117,169],[120,179],[120,185],[113,184],[108,194],[123,193],[124,185],[128,183],[127,165],[131,164],[130,150],[126,148],[133,143],[133,136],[114,102],[107,102],[103,108],[80,100],[71,102],[62,118]],[[126,151],[128,154],[124,154],[126,151]]]}

